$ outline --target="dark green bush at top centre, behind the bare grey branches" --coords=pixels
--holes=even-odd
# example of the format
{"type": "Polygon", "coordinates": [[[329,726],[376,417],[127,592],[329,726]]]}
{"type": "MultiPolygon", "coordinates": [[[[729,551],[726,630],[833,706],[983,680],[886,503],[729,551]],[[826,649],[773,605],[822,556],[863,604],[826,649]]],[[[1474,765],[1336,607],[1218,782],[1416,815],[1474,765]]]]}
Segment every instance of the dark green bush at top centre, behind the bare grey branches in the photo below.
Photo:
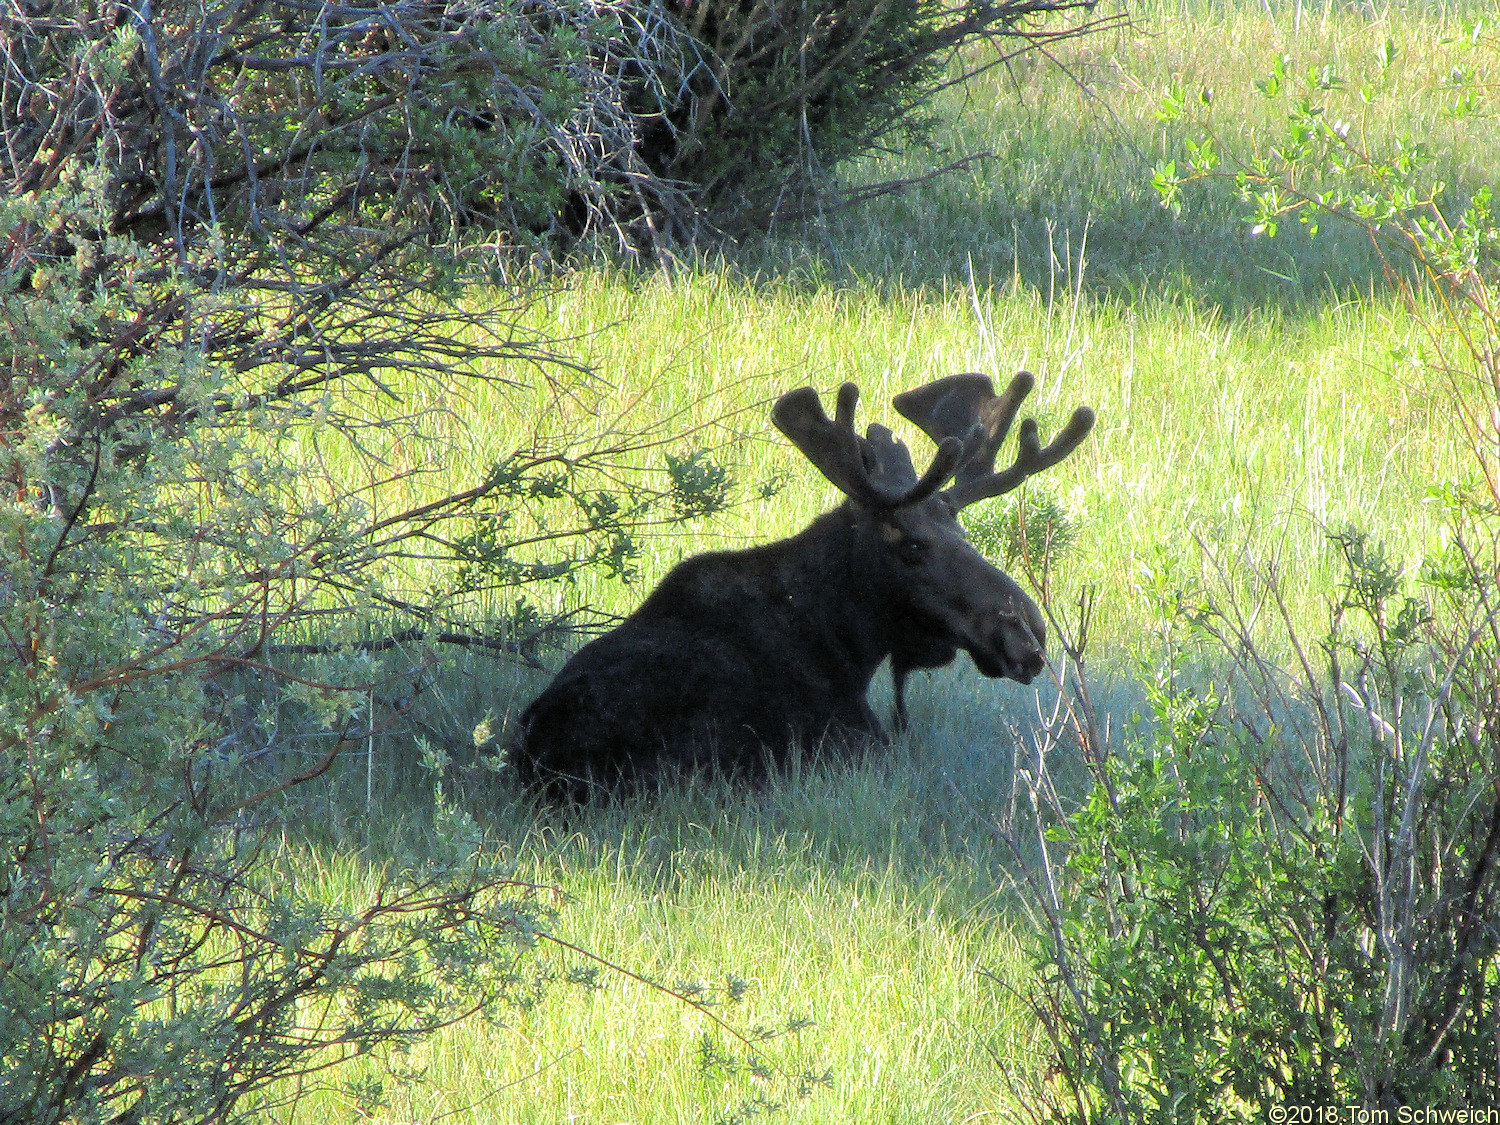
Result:
{"type": "MultiPolygon", "coordinates": [[[[843,160],[922,136],[956,52],[999,40],[1020,52],[1113,26],[1053,26],[1090,0],[663,0],[688,52],[681,76],[634,100],[638,154],[688,186],[716,224],[808,216],[843,160]]],[[[990,63],[993,64],[993,63],[990,63]]],[[[957,80],[954,80],[957,81],[957,80]]]]}

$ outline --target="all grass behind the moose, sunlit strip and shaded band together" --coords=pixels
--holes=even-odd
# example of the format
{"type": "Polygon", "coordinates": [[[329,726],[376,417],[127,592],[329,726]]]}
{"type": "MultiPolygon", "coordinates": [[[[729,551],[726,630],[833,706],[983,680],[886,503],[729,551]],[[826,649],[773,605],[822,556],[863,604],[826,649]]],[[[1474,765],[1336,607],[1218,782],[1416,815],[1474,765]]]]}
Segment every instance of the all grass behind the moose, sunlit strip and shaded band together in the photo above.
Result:
{"type": "MultiPolygon", "coordinates": [[[[624,612],[684,554],[788,534],[834,502],[768,424],[780,392],[854,380],[864,417],[892,422],[894,392],[957,370],[1032,369],[1044,426],[1077,402],[1098,410],[1088,446],[1038,486],[1082,525],[1059,580],[1096,586],[1104,633],[1122,644],[1144,615],[1142,566],[1190,556],[1196,536],[1270,536],[1310,576],[1305,612],[1330,580],[1323,528],[1378,524],[1414,560],[1432,534],[1430,486],[1466,471],[1448,388],[1416,363],[1420,332],[1356,231],[1324,224],[1310,238],[1290,224],[1257,237],[1227,189],[1162,210],[1150,168],[1180,153],[1155,111],[1173,81],[1212,90],[1221,129],[1251,154],[1272,105],[1254,81],[1276,57],[1293,70],[1334,62],[1350,114],[1372,117],[1356,80],[1390,39],[1400,50],[1383,81],[1400,94],[1365,129],[1377,142],[1436,144],[1434,176],[1462,189],[1500,165],[1491,117],[1452,112],[1455,68],[1470,84],[1494,80],[1492,51],[1473,46],[1482,12],[1146,4],[1131,28],[950,90],[938,144],[994,154],[966,172],[672,270],[566,278],[528,324],[568,338],[597,370],[592,414],[674,417],[684,430],[732,416],[690,441],[722,442],[746,506],[646,543],[636,586],[586,579],[552,604],[624,612]],[[759,501],[771,483],[784,488],[759,501]]],[[[932,162],[897,153],[852,178],[912,177],[932,162]]],[[[480,476],[548,414],[540,398],[492,390],[441,405],[454,410],[436,434],[441,483],[480,476]]],[[[894,422],[921,459],[926,438],[894,422]]],[[[550,411],[550,423],[580,418],[550,411]]]]}

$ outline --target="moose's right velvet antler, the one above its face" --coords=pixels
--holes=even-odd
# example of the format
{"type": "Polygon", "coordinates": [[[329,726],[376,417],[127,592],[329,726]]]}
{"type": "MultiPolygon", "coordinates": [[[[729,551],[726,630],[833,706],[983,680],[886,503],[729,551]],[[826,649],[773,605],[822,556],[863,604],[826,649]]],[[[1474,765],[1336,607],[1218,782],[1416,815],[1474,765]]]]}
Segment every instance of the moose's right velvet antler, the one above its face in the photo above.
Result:
{"type": "Polygon", "coordinates": [[[988,375],[950,375],[892,399],[896,410],[933,441],[963,440],[966,456],[948,489],[948,498],[957,507],[1010,492],[1026,477],[1066,458],[1089,435],[1094,411],[1088,406],[1072,411],[1068,424],[1046,448],[1036,436],[1036,420],[1026,418],[1017,435],[1016,460],[1004,472],[996,472],[994,454],[1010,434],[1022,400],[1035,386],[1036,376],[1029,370],[1018,372],[1002,394],[994,393],[988,375]]]}

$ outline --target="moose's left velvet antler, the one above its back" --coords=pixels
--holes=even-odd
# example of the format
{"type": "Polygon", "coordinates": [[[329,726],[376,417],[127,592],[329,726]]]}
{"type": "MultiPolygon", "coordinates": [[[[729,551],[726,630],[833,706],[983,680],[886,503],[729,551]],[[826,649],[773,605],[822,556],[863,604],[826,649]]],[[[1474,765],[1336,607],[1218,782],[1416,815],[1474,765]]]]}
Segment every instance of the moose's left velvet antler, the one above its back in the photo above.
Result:
{"type": "MultiPolygon", "coordinates": [[[[920,504],[948,482],[964,454],[964,442],[957,436],[938,440],[938,454],[915,483],[908,483],[909,478],[903,478],[902,472],[879,472],[882,477],[897,478],[890,483],[876,480],[876,472],[872,470],[879,470],[890,456],[884,446],[896,442],[884,426],[870,428],[868,442],[855,434],[854,408],[858,402],[860,388],[852,382],[843,384],[838,388],[834,417],[830,418],[824,412],[818,392],[812,387],[798,387],[776,400],[771,422],[840,492],[867,507],[898,508],[920,504]],[[884,438],[878,430],[885,430],[884,438]],[[872,442],[879,447],[872,447],[872,442]],[[873,465],[866,459],[867,452],[873,465]],[[892,483],[896,488],[891,488],[892,483]]],[[[908,458],[908,464],[909,460],[908,458]]],[[[915,476],[915,471],[910,476],[915,476]]]]}

